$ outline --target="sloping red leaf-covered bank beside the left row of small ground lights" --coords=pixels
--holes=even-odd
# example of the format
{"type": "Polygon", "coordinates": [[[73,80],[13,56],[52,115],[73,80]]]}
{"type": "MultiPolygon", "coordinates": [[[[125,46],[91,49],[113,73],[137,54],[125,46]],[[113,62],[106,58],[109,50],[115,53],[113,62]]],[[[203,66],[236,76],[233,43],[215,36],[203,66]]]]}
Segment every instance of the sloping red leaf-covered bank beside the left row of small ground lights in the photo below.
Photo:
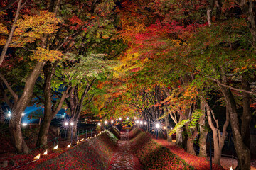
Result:
{"type": "Polygon", "coordinates": [[[107,169],[112,154],[117,147],[117,137],[109,131],[83,142],[58,155],[39,159],[37,162],[22,166],[21,169],[107,169]]]}

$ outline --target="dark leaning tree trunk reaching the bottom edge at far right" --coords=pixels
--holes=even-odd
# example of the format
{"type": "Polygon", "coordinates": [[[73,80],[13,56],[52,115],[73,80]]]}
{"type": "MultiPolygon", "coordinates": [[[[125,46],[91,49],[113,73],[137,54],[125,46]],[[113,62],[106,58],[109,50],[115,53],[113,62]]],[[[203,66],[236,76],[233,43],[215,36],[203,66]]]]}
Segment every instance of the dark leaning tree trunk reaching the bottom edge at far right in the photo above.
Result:
{"type": "Polygon", "coordinates": [[[218,84],[218,86],[220,87],[220,90],[222,91],[225,97],[226,106],[228,108],[228,112],[230,113],[230,124],[234,137],[235,151],[238,155],[237,169],[249,170],[251,161],[250,149],[245,145],[242,139],[242,134],[240,132],[239,127],[238,113],[235,105],[235,99],[230,89],[227,89],[224,86],[221,86],[220,84],[218,84]]]}

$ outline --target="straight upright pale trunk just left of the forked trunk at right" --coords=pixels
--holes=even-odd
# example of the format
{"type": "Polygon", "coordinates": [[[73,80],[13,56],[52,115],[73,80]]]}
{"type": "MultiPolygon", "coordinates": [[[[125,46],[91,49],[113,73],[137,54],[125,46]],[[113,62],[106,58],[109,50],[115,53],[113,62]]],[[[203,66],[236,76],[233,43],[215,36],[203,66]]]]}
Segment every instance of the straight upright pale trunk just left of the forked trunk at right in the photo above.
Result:
{"type": "Polygon", "coordinates": [[[207,157],[207,149],[206,149],[206,140],[208,130],[206,130],[206,114],[205,114],[205,105],[201,100],[200,108],[202,111],[201,118],[199,119],[199,130],[200,130],[200,138],[199,138],[199,157],[207,157]]]}

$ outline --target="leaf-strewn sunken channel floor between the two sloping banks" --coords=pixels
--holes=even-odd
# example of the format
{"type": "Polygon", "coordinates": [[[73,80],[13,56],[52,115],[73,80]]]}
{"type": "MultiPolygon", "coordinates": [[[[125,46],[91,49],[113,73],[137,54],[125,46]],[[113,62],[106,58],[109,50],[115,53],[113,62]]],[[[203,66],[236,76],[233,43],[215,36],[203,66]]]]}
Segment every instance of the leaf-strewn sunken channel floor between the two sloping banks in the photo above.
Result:
{"type": "Polygon", "coordinates": [[[117,152],[114,153],[108,169],[142,169],[142,165],[139,163],[139,159],[131,152],[128,132],[121,132],[121,139],[117,144],[117,152]]]}

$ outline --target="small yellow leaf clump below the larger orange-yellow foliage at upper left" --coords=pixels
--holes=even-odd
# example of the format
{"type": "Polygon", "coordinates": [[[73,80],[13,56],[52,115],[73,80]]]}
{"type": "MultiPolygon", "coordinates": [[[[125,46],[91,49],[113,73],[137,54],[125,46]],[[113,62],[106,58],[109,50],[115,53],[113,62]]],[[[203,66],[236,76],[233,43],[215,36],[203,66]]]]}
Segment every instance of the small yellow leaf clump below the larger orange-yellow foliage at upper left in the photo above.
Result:
{"type": "Polygon", "coordinates": [[[38,47],[35,51],[33,51],[33,55],[31,59],[38,61],[50,61],[54,62],[56,60],[60,60],[63,54],[57,50],[46,50],[41,47],[38,47]]]}

